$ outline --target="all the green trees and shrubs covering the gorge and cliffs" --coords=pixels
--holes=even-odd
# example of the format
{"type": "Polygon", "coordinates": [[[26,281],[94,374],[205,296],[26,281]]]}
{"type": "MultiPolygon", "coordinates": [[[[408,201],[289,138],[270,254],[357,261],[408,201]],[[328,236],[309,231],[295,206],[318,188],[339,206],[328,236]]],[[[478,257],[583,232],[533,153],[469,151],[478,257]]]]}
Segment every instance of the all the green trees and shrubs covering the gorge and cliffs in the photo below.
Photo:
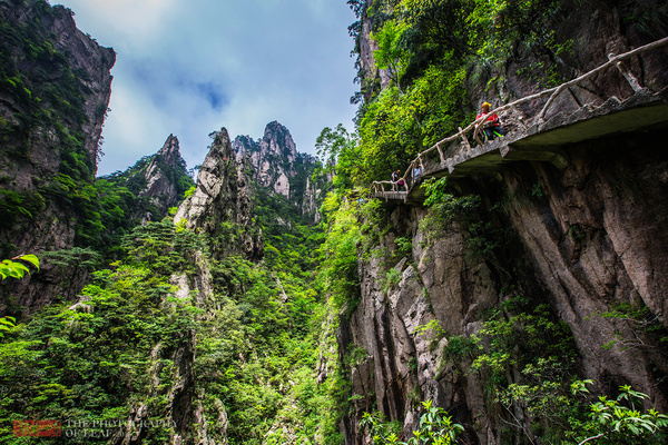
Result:
{"type": "MultiPolygon", "coordinates": [[[[258,188],[247,227],[223,220],[203,234],[161,220],[166,210],[140,196],[154,161],[179,199],[191,196],[183,162],[145,157],[126,172],[94,181],[84,140],[86,73],[39,32],[39,20],[55,12],[42,0],[31,1],[35,22],[0,24],[9,48],[0,52],[0,92],[24,107],[13,119],[1,118],[0,138],[11,147],[9,160],[26,161],[27,141],[43,129],[55,135],[51,148],[61,160],[57,174],[33,178],[35,190],[0,190],[0,212],[7,215],[0,228],[20,230],[49,209],[71,219],[76,239],[72,248],[42,256],[63,278],[56,303],[30,318],[0,318],[0,444],[26,443],[11,432],[13,421],[27,418],[60,419],[66,433],[82,419],[98,425],[94,438],[68,436],[80,444],[108,442],[108,424],[116,425],[114,434],[134,433],[146,444],[175,434],[195,438],[204,427],[216,443],[341,444],[342,417],[361,414],[354,403],[374,397],[352,394],[353,368],[370,363],[372,352],[358,338],[336,345],[338,323],[350,322],[360,304],[365,265],[379,265],[376,288],[387,294],[403,276],[396,264],[418,263],[413,254],[425,247],[410,233],[390,233],[386,208],[366,198],[366,187],[468,123],[475,113],[470,86],[502,90],[501,68],[519,52],[544,56],[521,71],[548,86],[564,75],[562,59],[573,49],[547,26],[560,12],[556,0],[375,0],[369,8],[365,0],[348,0],[357,18],[371,23],[375,67],[385,70],[387,85],[381,88],[381,76],[363,71],[358,61],[356,132],[325,128],[316,140],[317,167],[307,157],[283,166],[296,171],[293,200],[258,188]],[[28,55],[26,66],[19,55],[28,55]],[[294,201],[308,179],[328,191],[318,225],[294,201]],[[150,221],[139,225],[144,219],[150,221]],[[229,254],[261,233],[262,260],[229,254]],[[132,416],[153,426],[139,431],[127,424],[132,416]]],[[[636,8],[627,20],[658,32],[665,8],[650,12],[636,8]]],[[[351,33],[360,52],[360,22],[351,33]]],[[[465,266],[490,266],[501,290],[495,304],[478,308],[481,323],[473,334],[451,335],[431,317],[412,335],[424,336],[440,357],[439,373],[482,384],[487,412],[503,425],[501,442],[668,441],[668,417],[648,408],[645,394],[621,386],[612,396],[591,396],[592,382],[578,376],[568,325],[501,259],[512,239],[503,207],[445,179],[424,187],[424,244],[456,234],[469,253],[465,266]]],[[[546,190],[538,181],[527,195],[542,201],[546,190]]],[[[573,243],[586,235],[578,224],[568,230],[573,243]]],[[[39,267],[35,256],[4,260],[0,276],[21,278],[30,265],[39,267]]],[[[426,288],[419,298],[429,298],[426,288]]],[[[628,323],[638,339],[613,333],[608,348],[645,347],[644,338],[658,344],[666,337],[645,307],[621,305],[596,316],[628,323]]],[[[406,358],[413,374],[419,358],[406,358]]],[[[409,402],[416,406],[420,394],[413,390],[409,402]]],[[[419,428],[409,438],[402,437],[402,419],[385,422],[377,413],[366,413],[360,426],[376,444],[461,442],[464,426],[442,407],[426,400],[419,409],[419,428]]]]}

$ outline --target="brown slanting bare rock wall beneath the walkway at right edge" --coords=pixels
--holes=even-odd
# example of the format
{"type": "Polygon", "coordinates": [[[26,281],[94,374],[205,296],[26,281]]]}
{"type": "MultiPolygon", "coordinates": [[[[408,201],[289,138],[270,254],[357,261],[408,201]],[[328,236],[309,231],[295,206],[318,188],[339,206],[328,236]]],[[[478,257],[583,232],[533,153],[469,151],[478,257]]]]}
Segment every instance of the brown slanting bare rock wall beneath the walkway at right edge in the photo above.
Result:
{"type": "Polygon", "coordinates": [[[668,158],[656,145],[658,136],[582,144],[569,149],[572,165],[563,175],[536,165],[532,172],[509,172],[504,181],[511,194],[529,177],[544,185],[543,202],[513,202],[510,216],[537,276],[573,332],[586,375],[612,387],[630,383],[665,409],[668,392],[658,376],[666,375],[668,364],[660,345],[632,323],[591,318],[626,304],[647,307],[650,318],[668,326],[662,224],[668,158]],[[602,349],[616,332],[623,340],[602,349]]]}

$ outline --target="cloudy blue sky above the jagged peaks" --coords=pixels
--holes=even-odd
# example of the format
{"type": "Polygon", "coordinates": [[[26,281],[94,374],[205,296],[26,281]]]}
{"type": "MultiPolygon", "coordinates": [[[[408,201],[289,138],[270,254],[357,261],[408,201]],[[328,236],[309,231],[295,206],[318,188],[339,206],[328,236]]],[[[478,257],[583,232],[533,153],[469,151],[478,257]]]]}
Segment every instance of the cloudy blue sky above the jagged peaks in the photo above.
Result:
{"type": "Polygon", "coordinates": [[[274,120],[314,154],[325,127],[353,129],[355,18],[345,0],[51,0],[117,53],[98,175],[125,170],[171,134],[188,168],[212,140],[262,138],[274,120]]]}

